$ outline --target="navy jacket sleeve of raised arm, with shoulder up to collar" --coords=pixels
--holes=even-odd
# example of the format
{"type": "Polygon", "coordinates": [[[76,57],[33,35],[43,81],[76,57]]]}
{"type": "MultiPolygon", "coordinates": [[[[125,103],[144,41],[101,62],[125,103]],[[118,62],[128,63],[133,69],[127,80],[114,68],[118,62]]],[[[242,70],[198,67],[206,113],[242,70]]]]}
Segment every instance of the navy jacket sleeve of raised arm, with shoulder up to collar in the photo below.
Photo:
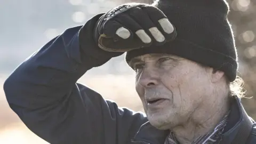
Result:
{"type": "Polygon", "coordinates": [[[22,62],[4,83],[12,110],[47,142],[126,143],[146,121],[142,114],[118,108],[76,83],[87,70],[113,56],[97,59],[93,55],[105,54],[93,51],[97,46],[91,38],[90,25],[97,19],[52,39],[22,62]],[[88,36],[79,43],[79,34],[86,31],[88,36]]]}

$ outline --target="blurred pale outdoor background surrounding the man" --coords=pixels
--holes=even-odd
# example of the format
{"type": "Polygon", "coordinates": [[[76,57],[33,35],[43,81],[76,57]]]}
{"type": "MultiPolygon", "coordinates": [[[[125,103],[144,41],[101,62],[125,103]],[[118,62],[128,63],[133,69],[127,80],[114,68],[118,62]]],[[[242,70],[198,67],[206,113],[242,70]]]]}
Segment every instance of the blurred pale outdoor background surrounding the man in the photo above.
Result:
{"type": "MultiPolygon", "coordinates": [[[[245,81],[246,97],[256,93],[256,0],[227,0],[239,57],[239,76],[245,81]]],[[[65,29],[83,25],[93,15],[127,2],[152,0],[9,0],[0,1],[0,143],[47,143],[20,121],[9,108],[3,82],[30,54],[65,29]]],[[[134,73],[124,57],[93,68],[79,79],[106,99],[121,107],[143,111],[134,90],[134,73]],[[86,80],[85,80],[86,79],[86,80]]],[[[243,100],[245,109],[256,118],[256,97],[243,100]]]]}

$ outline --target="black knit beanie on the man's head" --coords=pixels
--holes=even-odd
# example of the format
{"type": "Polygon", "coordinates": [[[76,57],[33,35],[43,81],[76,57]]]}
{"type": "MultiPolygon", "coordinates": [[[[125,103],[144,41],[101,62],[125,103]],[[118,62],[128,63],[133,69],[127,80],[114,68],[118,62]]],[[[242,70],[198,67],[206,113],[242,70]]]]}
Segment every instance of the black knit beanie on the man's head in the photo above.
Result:
{"type": "Polygon", "coordinates": [[[235,80],[237,53],[225,0],[158,0],[153,5],[166,14],[177,37],[162,46],[127,52],[127,63],[139,55],[167,53],[222,70],[230,82],[235,80]]]}

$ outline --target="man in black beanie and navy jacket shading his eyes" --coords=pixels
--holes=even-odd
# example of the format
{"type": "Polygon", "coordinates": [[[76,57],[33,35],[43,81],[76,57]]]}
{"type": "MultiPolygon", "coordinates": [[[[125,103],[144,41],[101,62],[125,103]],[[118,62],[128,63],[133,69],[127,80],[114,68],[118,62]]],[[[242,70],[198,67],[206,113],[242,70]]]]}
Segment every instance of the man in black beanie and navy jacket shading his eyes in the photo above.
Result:
{"type": "Polygon", "coordinates": [[[126,4],[67,29],[4,84],[10,107],[50,143],[256,143],[229,84],[237,55],[223,0],[126,4]],[[126,53],[147,117],[76,83],[126,53]]]}

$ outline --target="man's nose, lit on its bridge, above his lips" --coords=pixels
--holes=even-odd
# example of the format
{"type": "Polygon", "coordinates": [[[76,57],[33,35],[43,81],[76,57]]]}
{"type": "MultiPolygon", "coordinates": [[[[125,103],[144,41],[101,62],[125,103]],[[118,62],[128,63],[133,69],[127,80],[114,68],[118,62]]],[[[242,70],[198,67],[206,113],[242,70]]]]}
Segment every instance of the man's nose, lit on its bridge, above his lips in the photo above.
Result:
{"type": "Polygon", "coordinates": [[[156,70],[144,68],[138,79],[142,87],[154,87],[159,84],[159,74],[156,70]]]}

